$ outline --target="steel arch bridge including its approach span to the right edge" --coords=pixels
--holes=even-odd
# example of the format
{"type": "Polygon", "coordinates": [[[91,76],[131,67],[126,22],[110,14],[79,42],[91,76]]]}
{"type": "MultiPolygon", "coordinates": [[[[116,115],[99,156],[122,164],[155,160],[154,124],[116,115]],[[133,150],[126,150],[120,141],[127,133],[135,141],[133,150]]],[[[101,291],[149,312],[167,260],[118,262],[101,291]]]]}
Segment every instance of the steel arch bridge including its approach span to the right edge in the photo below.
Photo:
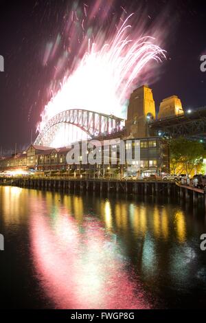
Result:
{"type": "MultiPolygon", "coordinates": [[[[56,113],[53,118],[45,123],[34,144],[60,148],[80,140],[102,139],[111,137],[111,135],[116,137],[132,136],[135,138],[183,136],[206,141],[206,107],[196,109],[192,113],[191,111],[188,113],[188,111],[182,110],[179,115],[173,113],[173,115],[164,116],[163,118],[148,120],[148,115],[151,113],[155,117],[155,102],[153,110],[148,109],[146,114],[143,106],[146,106],[147,101],[139,100],[138,104],[136,100],[136,92],[139,91],[139,98],[145,88],[147,91],[151,91],[143,86],[133,92],[135,94],[134,100],[133,95],[131,95],[128,106],[128,120],[86,109],[68,109],[56,113]]],[[[171,98],[176,100],[176,97],[171,98]]],[[[168,98],[169,102],[171,98],[168,98]]],[[[148,104],[148,107],[150,107],[150,104],[148,104]]]]}

